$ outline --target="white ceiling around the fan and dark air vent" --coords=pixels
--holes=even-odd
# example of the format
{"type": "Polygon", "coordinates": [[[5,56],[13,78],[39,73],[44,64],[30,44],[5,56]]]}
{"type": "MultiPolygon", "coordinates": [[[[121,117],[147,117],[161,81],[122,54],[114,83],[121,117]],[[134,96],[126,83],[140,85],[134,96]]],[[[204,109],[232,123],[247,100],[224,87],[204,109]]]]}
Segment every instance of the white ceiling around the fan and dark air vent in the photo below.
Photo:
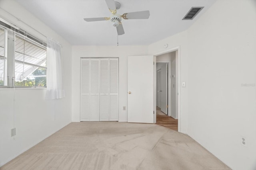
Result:
{"type": "MultiPolygon", "coordinates": [[[[116,45],[111,21],[83,18],[109,17],[105,0],[16,0],[72,45],[116,45]]],[[[150,11],[148,20],[122,20],[119,45],[149,45],[190,27],[216,0],[117,0],[118,14],[150,11]],[[194,20],[182,20],[191,7],[204,6],[194,20]]]]}

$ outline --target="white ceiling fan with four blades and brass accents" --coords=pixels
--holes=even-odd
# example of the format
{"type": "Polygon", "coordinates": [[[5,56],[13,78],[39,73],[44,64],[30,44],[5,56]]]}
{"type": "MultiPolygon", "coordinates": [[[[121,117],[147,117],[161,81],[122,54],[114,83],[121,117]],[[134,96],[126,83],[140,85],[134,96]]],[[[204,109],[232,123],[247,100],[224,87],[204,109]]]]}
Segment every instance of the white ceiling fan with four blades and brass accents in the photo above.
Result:
{"type": "Polygon", "coordinates": [[[125,20],[130,19],[148,19],[150,14],[149,11],[138,11],[138,12],[129,12],[124,13],[123,15],[117,14],[116,10],[118,10],[121,6],[119,2],[114,0],[105,0],[108,6],[109,11],[112,13],[110,17],[102,17],[102,18],[84,18],[85,21],[107,21],[110,20],[112,25],[116,27],[116,31],[118,35],[124,34],[124,27],[122,25],[122,18],[125,20]]]}

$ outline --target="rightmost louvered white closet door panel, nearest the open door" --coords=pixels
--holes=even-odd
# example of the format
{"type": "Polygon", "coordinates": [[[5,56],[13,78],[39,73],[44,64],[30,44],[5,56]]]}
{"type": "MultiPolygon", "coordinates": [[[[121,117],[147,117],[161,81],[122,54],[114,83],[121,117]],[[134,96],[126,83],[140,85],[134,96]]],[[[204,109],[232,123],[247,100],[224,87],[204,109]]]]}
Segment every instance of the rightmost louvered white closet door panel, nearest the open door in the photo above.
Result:
{"type": "Polygon", "coordinates": [[[110,121],[118,121],[118,58],[109,59],[110,121]]]}

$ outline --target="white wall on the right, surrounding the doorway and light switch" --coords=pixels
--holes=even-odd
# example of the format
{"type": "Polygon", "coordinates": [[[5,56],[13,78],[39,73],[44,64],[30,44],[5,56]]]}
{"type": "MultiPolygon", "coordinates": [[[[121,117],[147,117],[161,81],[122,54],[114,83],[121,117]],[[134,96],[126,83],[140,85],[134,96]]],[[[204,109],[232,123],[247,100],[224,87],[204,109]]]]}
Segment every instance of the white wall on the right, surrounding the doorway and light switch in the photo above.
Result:
{"type": "Polygon", "coordinates": [[[256,169],[255,21],[255,0],[218,0],[188,30],[149,45],[149,54],[180,46],[181,131],[234,170],[256,169]]]}

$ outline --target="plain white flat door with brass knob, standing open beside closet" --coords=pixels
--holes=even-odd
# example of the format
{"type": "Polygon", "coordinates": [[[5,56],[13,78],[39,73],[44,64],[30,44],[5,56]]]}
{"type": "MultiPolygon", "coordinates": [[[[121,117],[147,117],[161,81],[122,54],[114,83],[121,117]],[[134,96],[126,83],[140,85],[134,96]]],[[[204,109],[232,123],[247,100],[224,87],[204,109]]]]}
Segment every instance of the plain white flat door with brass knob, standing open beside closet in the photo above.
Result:
{"type": "Polygon", "coordinates": [[[154,122],[153,56],[128,57],[128,122],[154,122]]]}

